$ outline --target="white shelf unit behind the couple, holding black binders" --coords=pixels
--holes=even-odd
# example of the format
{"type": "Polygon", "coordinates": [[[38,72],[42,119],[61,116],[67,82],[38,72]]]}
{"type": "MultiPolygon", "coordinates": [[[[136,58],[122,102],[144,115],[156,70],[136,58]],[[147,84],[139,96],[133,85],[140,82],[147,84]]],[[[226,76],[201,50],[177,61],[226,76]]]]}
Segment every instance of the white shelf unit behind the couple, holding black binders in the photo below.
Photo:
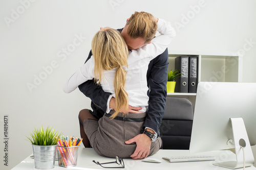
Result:
{"type": "MultiPolygon", "coordinates": [[[[175,69],[175,58],[198,57],[198,82],[242,82],[243,58],[234,52],[169,51],[168,71],[175,69]]],[[[167,93],[167,96],[183,96],[194,106],[196,93],[167,93]]]]}

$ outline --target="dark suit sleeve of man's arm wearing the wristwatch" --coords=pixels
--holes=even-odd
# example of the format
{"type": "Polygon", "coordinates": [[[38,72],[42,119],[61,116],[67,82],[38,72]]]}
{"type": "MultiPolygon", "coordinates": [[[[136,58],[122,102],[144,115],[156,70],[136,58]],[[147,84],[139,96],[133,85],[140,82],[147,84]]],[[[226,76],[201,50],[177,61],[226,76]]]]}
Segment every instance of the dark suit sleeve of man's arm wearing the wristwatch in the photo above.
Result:
{"type": "Polygon", "coordinates": [[[147,117],[144,127],[153,129],[158,136],[159,129],[164,114],[166,103],[166,84],[168,75],[168,49],[150,62],[147,70],[147,84],[150,90],[148,95],[147,117]]]}

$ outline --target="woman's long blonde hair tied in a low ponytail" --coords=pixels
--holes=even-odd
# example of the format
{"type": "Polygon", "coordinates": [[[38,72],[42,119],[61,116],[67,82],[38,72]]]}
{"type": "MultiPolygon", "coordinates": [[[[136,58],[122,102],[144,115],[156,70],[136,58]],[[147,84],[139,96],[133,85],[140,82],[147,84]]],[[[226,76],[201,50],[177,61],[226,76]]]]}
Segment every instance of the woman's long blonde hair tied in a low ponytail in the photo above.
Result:
{"type": "Polygon", "coordinates": [[[98,79],[98,84],[103,79],[103,70],[116,68],[114,90],[117,108],[111,118],[116,117],[122,107],[124,107],[126,113],[129,98],[125,91],[127,72],[123,69],[123,66],[128,67],[127,57],[129,52],[124,39],[117,30],[111,28],[98,31],[92,40],[92,53],[95,61],[94,76],[98,79]]]}

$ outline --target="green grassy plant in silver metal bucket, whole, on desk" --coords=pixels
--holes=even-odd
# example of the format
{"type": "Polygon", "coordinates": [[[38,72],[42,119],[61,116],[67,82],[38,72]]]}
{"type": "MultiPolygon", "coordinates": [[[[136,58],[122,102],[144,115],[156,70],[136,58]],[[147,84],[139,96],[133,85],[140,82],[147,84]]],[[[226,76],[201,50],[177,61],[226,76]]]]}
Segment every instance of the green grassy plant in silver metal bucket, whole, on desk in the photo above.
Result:
{"type": "Polygon", "coordinates": [[[48,126],[46,129],[35,128],[33,133],[30,133],[30,137],[26,136],[32,143],[35,168],[51,169],[54,167],[57,142],[61,134],[48,126]]]}

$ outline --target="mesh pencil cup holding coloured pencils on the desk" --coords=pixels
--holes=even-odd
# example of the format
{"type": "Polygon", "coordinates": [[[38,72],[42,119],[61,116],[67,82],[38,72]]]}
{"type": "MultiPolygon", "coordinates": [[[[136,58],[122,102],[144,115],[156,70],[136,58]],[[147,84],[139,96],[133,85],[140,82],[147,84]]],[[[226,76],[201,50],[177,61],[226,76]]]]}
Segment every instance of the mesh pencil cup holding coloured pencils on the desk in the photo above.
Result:
{"type": "Polygon", "coordinates": [[[76,166],[79,147],[80,145],[74,147],[62,147],[58,145],[57,154],[59,166],[76,166]]]}

